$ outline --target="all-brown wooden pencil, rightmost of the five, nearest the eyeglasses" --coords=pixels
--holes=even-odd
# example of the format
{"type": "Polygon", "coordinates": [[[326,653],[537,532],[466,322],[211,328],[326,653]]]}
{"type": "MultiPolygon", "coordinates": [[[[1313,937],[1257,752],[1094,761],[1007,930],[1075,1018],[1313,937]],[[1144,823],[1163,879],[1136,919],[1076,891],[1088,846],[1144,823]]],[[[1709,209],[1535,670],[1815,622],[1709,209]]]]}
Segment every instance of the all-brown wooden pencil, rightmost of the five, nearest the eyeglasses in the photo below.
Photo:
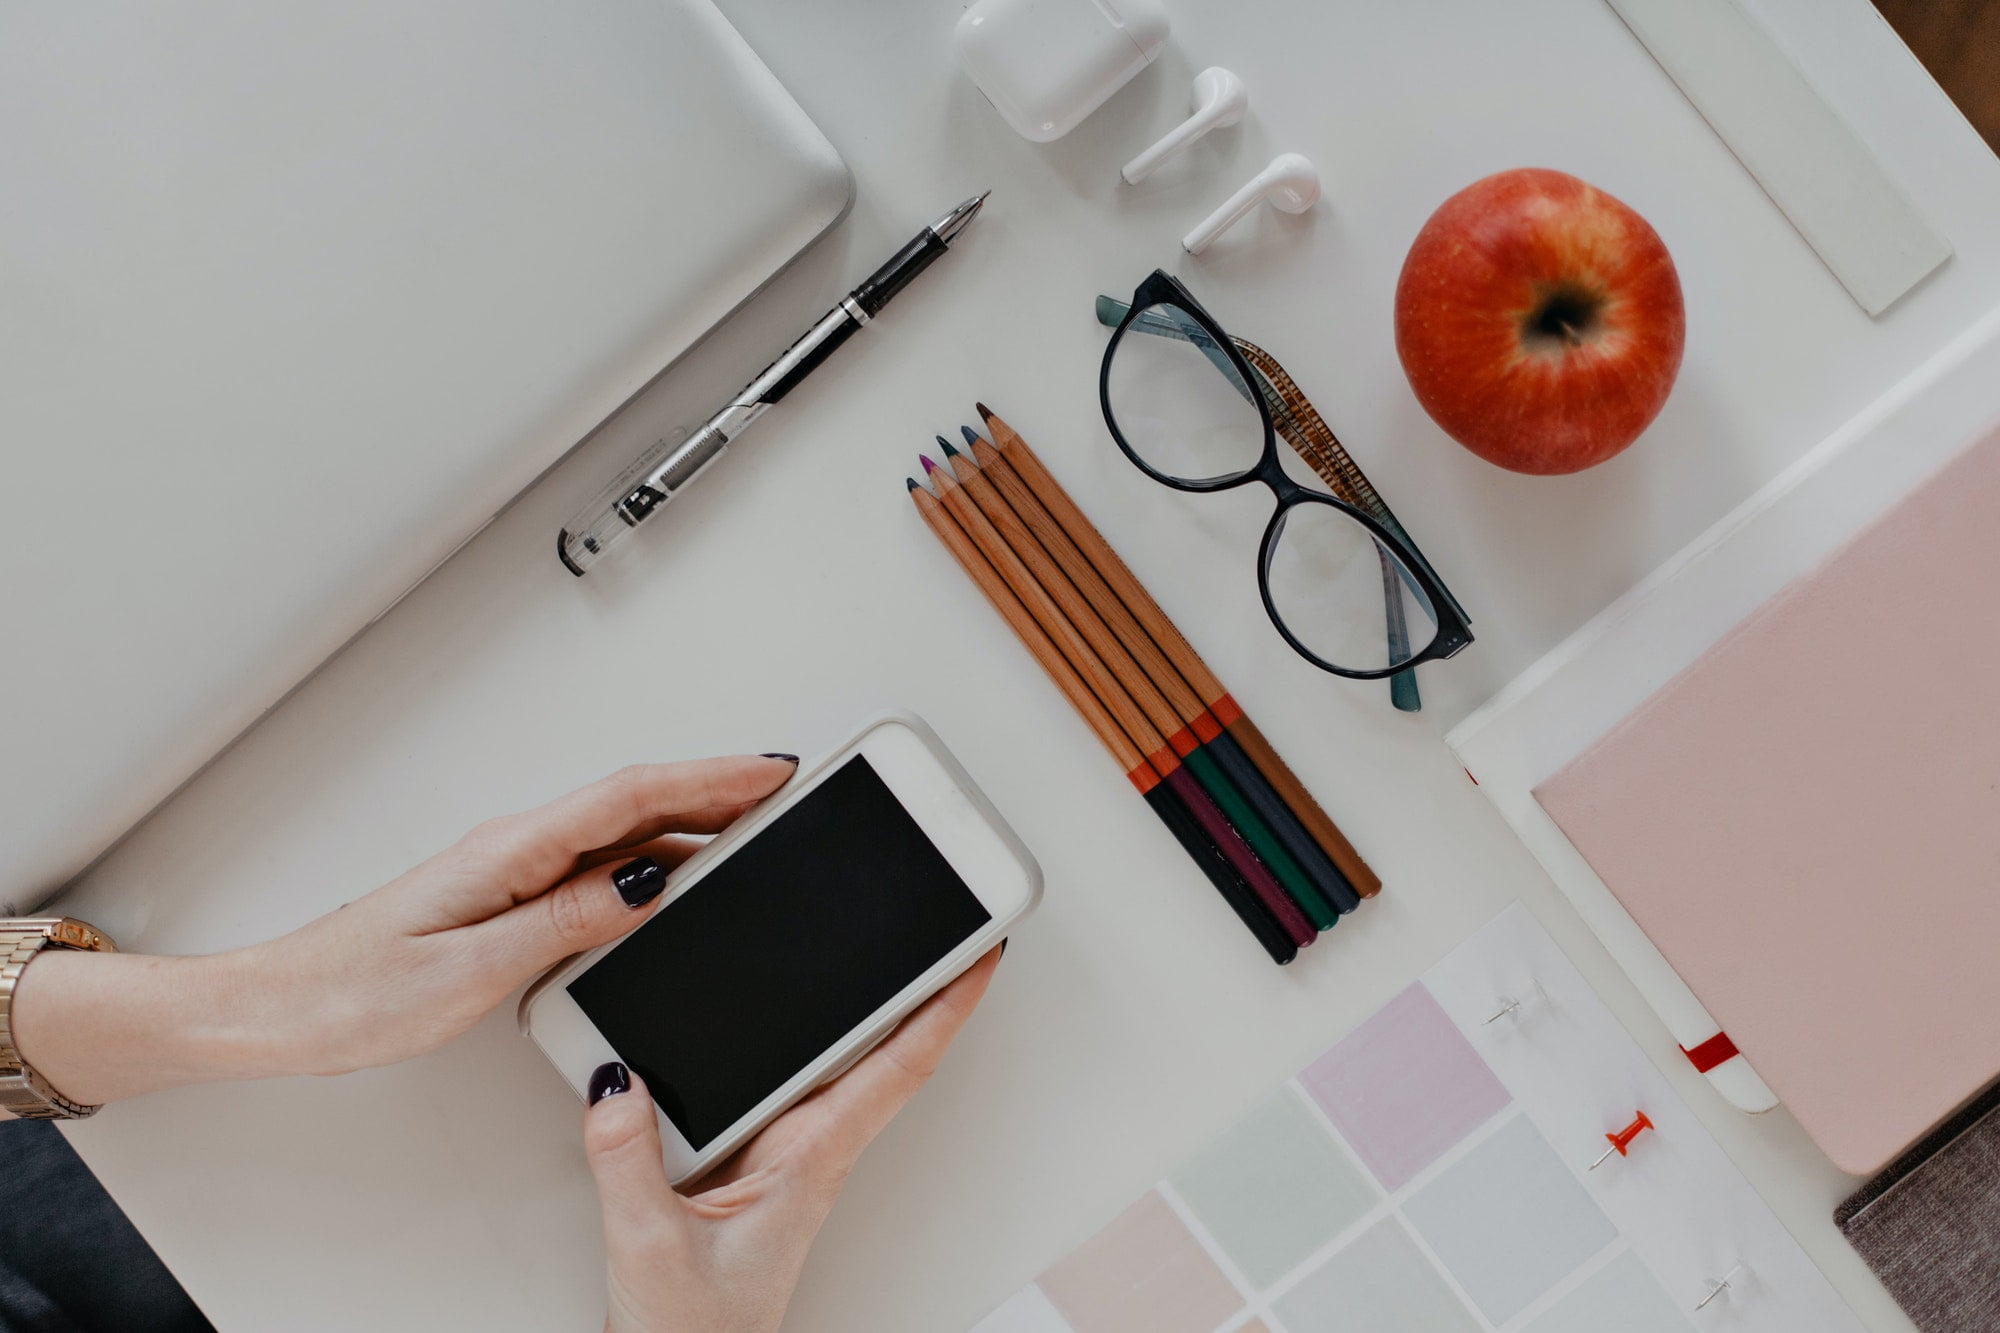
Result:
{"type": "Polygon", "coordinates": [[[1132,576],[1118,552],[1112,550],[1110,542],[1096,530],[1096,526],[1084,518],[1084,512],[1068,496],[1068,492],[1056,482],[1056,478],[1042,466],[1042,460],[1028,446],[1020,434],[1008,426],[1004,420],[994,416],[994,412],[984,404],[976,404],[980,418],[986,428],[992,430],[992,442],[998,452],[1014,466],[1020,480],[1026,484],[1034,498],[1042,502],[1042,508],[1054,518],[1054,522],[1070,536],[1070,540],[1082,550],[1090,564],[1098,570],[1106,584],[1118,594],[1118,600],[1126,604],[1132,616],[1144,626],[1160,650],[1168,656],[1174,669],[1194,687],[1208,713],[1216,723],[1236,741],[1244,751],[1248,761],[1264,775],[1264,781],[1278,793],[1282,803],[1292,811],[1300,825],[1312,835],[1320,851],[1340,869],[1354,893],[1372,899],[1382,889],[1382,881],[1376,877],[1368,863],[1362,861],[1354,845],[1348,843],[1346,835],[1328,819],[1320,803],[1312,799],[1306,785],[1298,781],[1290,767],[1278,757],[1264,733],[1258,731],[1256,723],[1230,699],[1222,683],[1208,671],[1208,664],[1200,654],[1182,638],[1174,622],[1160,610],[1160,604],[1152,600],[1144,584],[1132,576]]]}

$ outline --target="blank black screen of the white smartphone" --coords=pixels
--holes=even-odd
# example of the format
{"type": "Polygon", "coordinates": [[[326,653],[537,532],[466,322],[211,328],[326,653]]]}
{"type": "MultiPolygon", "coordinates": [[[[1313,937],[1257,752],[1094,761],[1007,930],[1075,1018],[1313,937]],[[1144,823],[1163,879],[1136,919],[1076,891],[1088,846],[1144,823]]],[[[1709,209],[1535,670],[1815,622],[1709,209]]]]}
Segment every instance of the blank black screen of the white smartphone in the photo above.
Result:
{"type": "Polygon", "coordinates": [[[568,991],[702,1149],[990,919],[856,755],[568,991]]]}

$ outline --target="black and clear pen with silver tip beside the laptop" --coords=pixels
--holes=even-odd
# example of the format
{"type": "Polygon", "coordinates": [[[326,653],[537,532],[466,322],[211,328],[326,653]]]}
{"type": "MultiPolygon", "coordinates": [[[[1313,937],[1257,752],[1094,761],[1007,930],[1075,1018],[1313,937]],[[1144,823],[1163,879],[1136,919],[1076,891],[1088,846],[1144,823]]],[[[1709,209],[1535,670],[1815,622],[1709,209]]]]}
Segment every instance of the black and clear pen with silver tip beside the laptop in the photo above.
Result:
{"type": "Polygon", "coordinates": [[[556,554],[564,566],[582,578],[584,570],[596,564],[618,538],[680,494],[772,402],[792,392],[794,384],[812,374],[814,366],[832,356],[836,346],[872,320],[916,274],[930,268],[930,262],[944,254],[952,236],[966,228],[984,202],[986,194],[968,198],[920,230],[890,262],[842,296],[838,306],[806,330],[804,338],[784,348],[778,360],[750,380],[748,388],[730,398],[728,406],[702,422],[700,430],[678,444],[660,440],[648,448],[556,536],[556,554]]]}

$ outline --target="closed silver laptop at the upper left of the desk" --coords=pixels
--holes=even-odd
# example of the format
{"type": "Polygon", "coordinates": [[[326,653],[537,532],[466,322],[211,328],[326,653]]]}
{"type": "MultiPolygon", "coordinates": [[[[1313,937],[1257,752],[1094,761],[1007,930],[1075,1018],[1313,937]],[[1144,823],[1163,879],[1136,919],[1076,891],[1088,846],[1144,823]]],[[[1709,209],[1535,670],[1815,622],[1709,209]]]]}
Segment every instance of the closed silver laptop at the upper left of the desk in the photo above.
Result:
{"type": "Polygon", "coordinates": [[[708,0],[0,2],[0,911],[852,192],[708,0]]]}

